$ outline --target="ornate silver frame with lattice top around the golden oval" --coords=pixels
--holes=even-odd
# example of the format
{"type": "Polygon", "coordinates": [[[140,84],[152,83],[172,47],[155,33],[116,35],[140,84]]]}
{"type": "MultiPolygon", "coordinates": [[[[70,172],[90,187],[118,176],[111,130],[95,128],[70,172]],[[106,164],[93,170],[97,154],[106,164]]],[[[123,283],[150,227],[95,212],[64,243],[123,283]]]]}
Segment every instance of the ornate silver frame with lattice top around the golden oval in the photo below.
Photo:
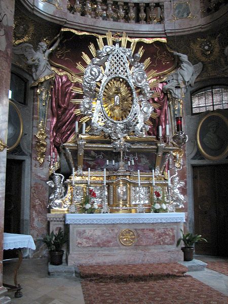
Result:
{"type": "MultiPolygon", "coordinates": [[[[134,132],[136,136],[144,137],[148,126],[144,124],[154,108],[148,101],[154,93],[149,88],[144,64],[139,63],[140,55],[132,50],[119,46],[104,46],[97,50],[97,57],[93,58],[85,69],[83,78],[83,101],[81,112],[91,117],[90,134],[105,136],[112,139],[123,138],[134,132]],[[129,68],[129,63],[132,66],[129,68]],[[123,79],[131,89],[132,107],[127,118],[115,121],[108,117],[103,105],[103,93],[106,85],[112,79],[123,79]],[[101,81],[99,93],[97,82],[101,81]],[[136,89],[140,89],[137,95],[136,89]],[[94,105],[95,104],[95,105],[94,105]]],[[[115,95],[115,102],[118,95],[115,95]]]]}

